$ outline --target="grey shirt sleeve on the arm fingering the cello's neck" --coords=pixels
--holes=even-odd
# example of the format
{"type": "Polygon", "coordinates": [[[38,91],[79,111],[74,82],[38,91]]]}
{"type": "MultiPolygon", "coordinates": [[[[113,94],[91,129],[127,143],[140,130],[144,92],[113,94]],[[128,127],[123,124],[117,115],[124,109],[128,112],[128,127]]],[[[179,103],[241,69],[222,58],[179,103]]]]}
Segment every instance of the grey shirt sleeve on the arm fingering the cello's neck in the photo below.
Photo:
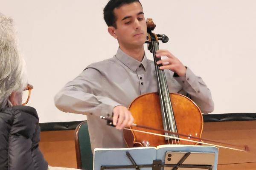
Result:
{"type": "Polygon", "coordinates": [[[183,90],[198,105],[202,113],[210,113],[214,110],[212,95],[201,77],[196,76],[189,68],[185,77],[174,77],[180,83],[183,90]]]}

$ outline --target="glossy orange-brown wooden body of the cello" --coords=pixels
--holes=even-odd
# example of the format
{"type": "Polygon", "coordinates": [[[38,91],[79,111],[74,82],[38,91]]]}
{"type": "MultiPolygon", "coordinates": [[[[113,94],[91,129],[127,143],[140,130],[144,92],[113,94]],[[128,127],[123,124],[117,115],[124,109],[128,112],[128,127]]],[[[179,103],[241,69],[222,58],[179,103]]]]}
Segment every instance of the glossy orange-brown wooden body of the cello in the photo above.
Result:
{"type": "MultiPolygon", "coordinates": [[[[198,106],[195,105],[191,99],[181,94],[170,93],[170,99],[172,101],[177,132],[200,138],[203,130],[203,116],[198,106]]],[[[134,117],[135,124],[163,129],[159,95],[157,93],[148,93],[138,96],[133,102],[131,102],[129,111],[134,117]]],[[[135,130],[144,130],[139,127],[130,128],[135,130]]],[[[159,131],[156,130],[147,131],[159,133],[159,131]]],[[[164,132],[160,134],[164,134],[164,132]]],[[[140,132],[130,130],[124,130],[124,138],[128,147],[156,147],[161,144],[197,144],[195,142],[187,142],[183,140],[169,143],[169,141],[162,136],[142,134],[140,132]]],[[[189,139],[183,136],[180,136],[180,138],[189,139]]]]}

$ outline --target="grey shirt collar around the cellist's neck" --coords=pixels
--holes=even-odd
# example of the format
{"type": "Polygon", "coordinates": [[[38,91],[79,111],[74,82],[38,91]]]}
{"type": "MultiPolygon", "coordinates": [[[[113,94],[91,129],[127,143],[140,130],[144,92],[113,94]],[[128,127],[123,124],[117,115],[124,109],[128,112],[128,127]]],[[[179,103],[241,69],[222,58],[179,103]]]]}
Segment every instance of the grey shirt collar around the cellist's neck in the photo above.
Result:
{"type": "Polygon", "coordinates": [[[137,59],[134,59],[131,56],[125,54],[120,48],[118,48],[116,52],[116,58],[134,72],[137,70],[137,68],[140,67],[140,65],[142,65],[145,70],[147,69],[146,54],[144,54],[142,62],[139,62],[137,59]]]}

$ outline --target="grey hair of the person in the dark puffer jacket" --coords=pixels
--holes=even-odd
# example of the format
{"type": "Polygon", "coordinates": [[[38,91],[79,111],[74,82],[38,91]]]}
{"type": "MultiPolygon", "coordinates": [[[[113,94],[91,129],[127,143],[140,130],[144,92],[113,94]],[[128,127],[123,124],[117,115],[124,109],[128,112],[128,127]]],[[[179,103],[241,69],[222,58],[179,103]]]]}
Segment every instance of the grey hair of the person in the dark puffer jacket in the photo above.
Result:
{"type": "Polygon", "coordinates": [[[27,84],[25,61],[17,49],[12,18],[0,13],[0,110],[12,106],[9,96],[27,84]]]}

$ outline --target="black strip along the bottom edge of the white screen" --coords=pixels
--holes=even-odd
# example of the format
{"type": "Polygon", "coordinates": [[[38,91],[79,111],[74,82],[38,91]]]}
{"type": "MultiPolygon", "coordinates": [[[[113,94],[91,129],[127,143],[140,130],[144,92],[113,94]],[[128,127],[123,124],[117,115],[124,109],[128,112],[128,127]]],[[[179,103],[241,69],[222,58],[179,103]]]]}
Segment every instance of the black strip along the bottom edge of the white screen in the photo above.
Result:
{"type": "MultiPolygon", "coordinates": [[[[205,114],[204,122],[229,122],[229,121],[248,121],[256,120],[256,113],[224,113],[224,114],[205,114]]],[[[41,131],[53,130],[75,130],[76,126],[83,121],[75,122],[49,122],[40,123],[41,131]]]]}

